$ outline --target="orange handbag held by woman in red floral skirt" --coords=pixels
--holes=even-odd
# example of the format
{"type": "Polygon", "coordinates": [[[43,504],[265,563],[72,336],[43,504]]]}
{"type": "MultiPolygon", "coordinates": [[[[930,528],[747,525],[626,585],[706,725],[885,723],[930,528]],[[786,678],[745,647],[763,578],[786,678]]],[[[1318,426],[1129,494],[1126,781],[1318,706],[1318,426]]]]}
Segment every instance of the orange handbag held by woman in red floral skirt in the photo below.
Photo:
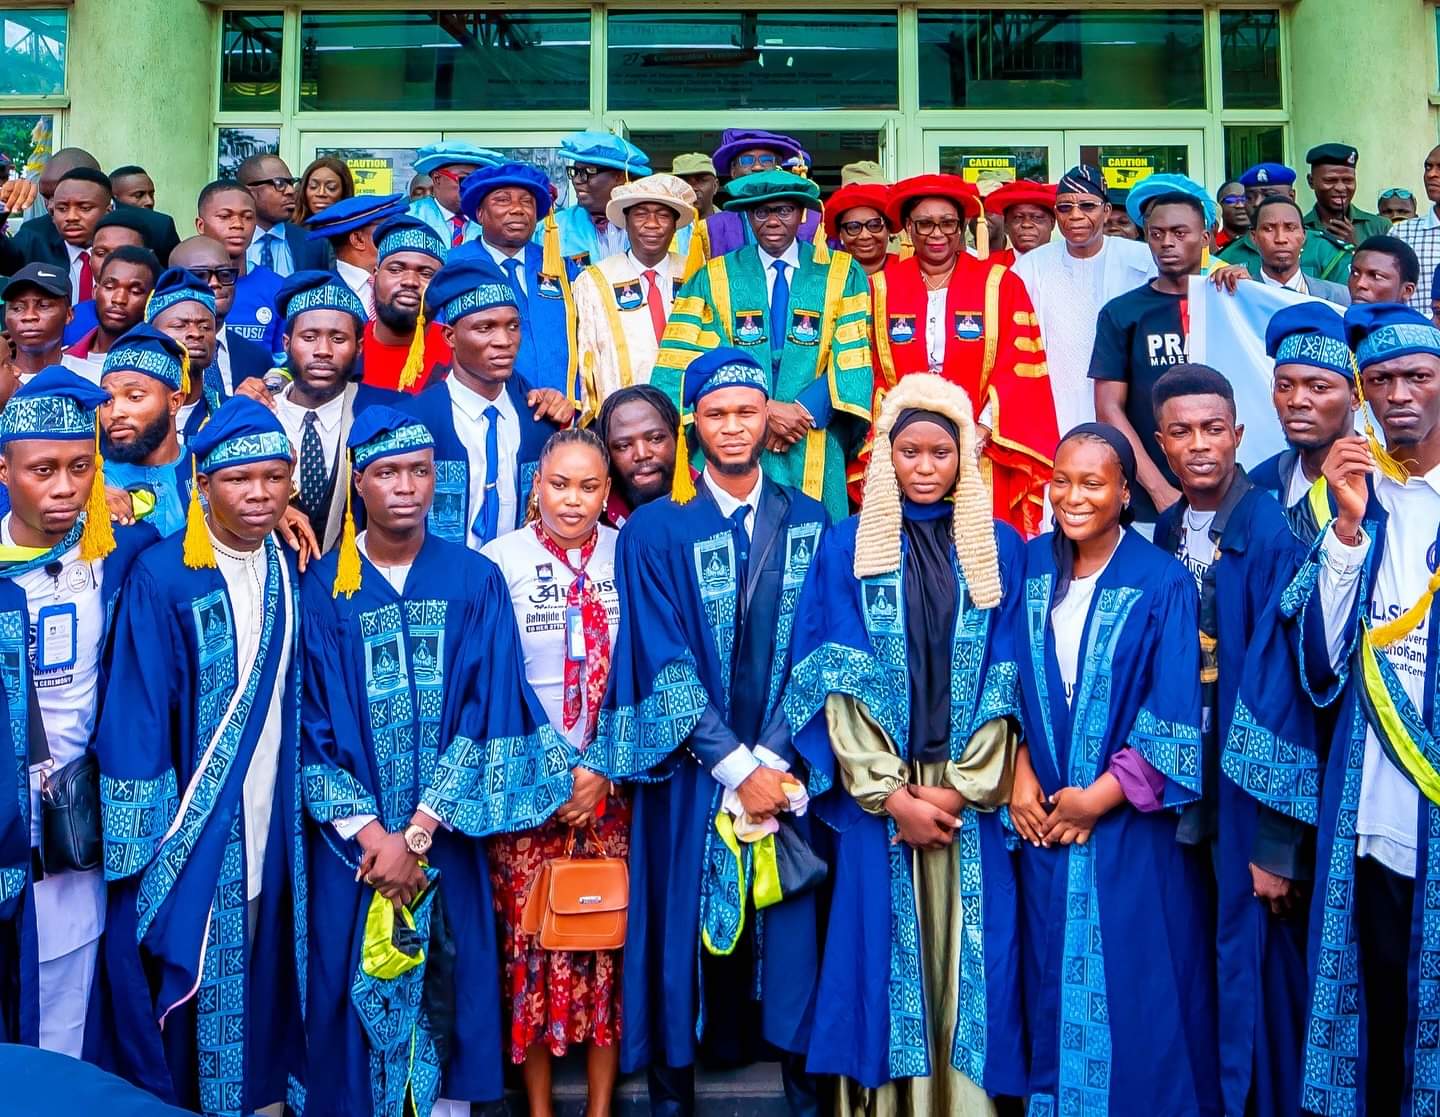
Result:
{"type": "Polygon", "coordinates": [[[540,867],[520,930],[539,934],[544,950],[619,950],[625,946],[629,867],[624,858],[573,854],[570,831],[564,856],[540,867]]]}

